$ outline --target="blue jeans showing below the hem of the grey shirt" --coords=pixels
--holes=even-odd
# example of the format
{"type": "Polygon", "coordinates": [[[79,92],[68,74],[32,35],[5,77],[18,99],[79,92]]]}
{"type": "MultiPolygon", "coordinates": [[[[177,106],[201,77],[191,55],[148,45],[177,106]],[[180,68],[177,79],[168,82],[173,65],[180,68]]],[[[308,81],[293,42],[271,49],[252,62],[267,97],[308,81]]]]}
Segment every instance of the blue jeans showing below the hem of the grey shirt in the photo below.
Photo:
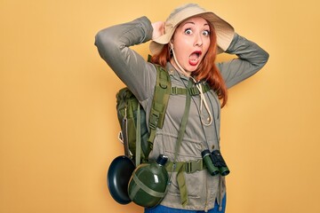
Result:
{"type": "MultiPolygon", "coordinates": [[[[226,202],[227,202],[227,198],[226,198],[226,196],[224,196],[224,198],[222,199],[222,203],[221,203],[222,209],[219,210],[220,206],[218,205],[217,201],[215,201],[214,208],[208,210],[208,213],[225,213],[226,202]]],[[[162,205],[157,205],[154,208],[145,209],[144,212],[145,213],[182,213],[182,212],[183,213],[202,213],[204,211],[203,210],[196,211],[196,210],[185,210],[185,209],[172,209],[172,208],[165,207],[162,205]]]]}

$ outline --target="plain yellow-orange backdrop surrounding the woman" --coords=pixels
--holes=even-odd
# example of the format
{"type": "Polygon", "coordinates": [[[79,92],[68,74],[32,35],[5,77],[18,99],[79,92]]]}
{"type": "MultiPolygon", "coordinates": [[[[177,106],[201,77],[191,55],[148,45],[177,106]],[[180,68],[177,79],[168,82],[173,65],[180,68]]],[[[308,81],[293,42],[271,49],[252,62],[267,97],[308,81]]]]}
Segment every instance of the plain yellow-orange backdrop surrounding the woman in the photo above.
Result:
{"type": "MultiPolygon", "coordinates": [[[[0,0],[0,212],[142,212],[108,193],[123,147],[101,28],[186,1],[0,0]]],[[[196,1],[270,54],[229,91],[221,145],[228,213],[320,212],[320,15],[316,0],[196,1]]],[[[148,54],[148,43],[134,47],[148,54]]],[[[228,59],[221,55],[220,59],[228,59]]]]}

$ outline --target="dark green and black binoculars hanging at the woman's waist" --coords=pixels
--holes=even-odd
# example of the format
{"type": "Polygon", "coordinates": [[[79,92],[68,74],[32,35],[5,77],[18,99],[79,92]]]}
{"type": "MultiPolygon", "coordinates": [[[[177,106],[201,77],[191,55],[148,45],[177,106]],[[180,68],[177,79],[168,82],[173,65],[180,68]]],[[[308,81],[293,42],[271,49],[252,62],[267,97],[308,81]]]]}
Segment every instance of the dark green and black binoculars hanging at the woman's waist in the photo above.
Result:
{"type": "Polygon", "coordinates": [[[218,175],[226,176],[230,173],[226,162],[220,153],[220,150],[213,150],[212,153],[208,149],[201,152],[204,164],[212,176],[218,175]]]}

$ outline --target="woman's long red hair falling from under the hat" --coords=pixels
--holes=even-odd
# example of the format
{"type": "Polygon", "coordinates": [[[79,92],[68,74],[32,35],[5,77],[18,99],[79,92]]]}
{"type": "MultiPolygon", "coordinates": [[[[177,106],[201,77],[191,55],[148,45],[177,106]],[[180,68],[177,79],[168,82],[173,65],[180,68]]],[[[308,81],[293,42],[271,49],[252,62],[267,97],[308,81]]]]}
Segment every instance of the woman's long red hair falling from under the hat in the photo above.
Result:
{"type": "MultiPolygon", "coordinates": [[[[211,86],[212,90],[218,95],[221,100],[221,107],[225,106],[228,100],[228,91],[226,83],[224,82],[220,70],[215,65],[214,61],[217,57],[217,36],[215,34],[214,27],[207,21],[210,26],[210,46],[206,52],[204,59],[197,69],[192,72],[192,76],[196,78],[196,81],[204,80],[211,86]]],[[[167,61],[172,59],[170,53],[170,47],[168,44],[164,44],[164,48],[158,54],[151,57],[151,62],[159,64],[162,67],[166,66],[167,61]]]]}

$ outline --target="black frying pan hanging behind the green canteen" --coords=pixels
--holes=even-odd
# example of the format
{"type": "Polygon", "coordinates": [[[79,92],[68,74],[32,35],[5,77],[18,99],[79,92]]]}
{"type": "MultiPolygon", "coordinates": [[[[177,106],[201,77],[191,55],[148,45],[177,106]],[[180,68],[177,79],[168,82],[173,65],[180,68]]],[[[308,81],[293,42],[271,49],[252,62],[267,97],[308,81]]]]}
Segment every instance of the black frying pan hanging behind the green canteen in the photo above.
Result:
{"type": "Polygon", "coordinates": [[[120,204],[131,202],[128,194],[128,184],[134,169],[134,163],[125,155],[116,157],[108,168],[108,190],[113,199],[120,204]]]}

